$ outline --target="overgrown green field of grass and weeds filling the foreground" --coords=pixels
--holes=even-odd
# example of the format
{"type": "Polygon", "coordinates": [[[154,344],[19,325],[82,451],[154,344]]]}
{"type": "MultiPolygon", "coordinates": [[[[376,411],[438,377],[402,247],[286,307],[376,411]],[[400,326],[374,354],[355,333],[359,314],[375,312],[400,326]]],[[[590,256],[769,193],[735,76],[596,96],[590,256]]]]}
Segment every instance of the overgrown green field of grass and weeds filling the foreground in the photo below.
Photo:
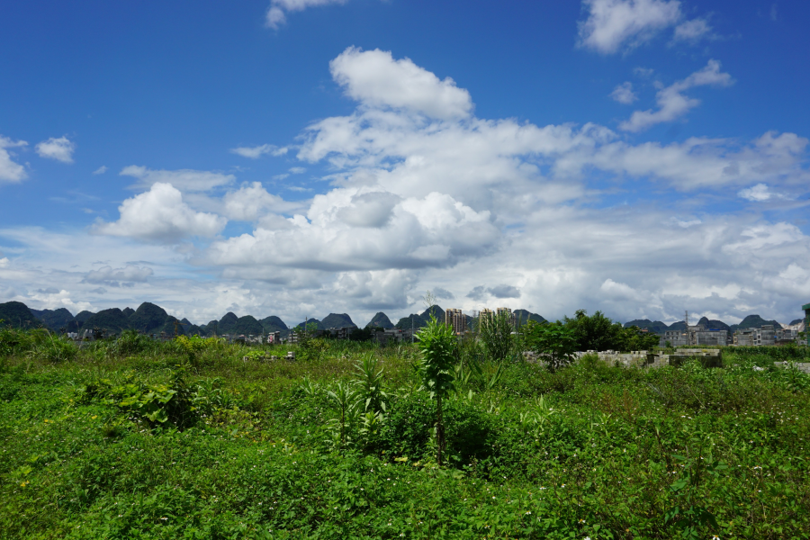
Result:
{"type": "Polygon", "coordinates": [[[810,377],[784,350],[552,373],[465,347],[438,467],[410,345],[3,332],[2,538],[810,536],[810,377]]]}

